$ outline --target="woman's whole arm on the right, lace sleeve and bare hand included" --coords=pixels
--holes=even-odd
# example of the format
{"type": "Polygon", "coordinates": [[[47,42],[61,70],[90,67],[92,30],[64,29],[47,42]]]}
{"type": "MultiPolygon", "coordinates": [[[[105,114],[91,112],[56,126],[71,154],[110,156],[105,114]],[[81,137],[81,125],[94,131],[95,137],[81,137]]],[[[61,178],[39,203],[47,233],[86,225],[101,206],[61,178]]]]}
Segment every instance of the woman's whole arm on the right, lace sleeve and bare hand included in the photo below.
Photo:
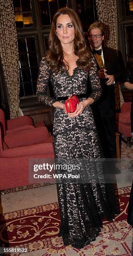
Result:
{"type": "Polygon", "coordinates": [[[81,115],[88,105],[93,104],[94,101],[98,100],[101,96],[101,83],[97,71],[96,60],[94,57],[90,59],[89,81],[91,84],[91,94],[86,100],[79,102],[76,111],[74,113],[68,113],[69,116],[76,117],[81,115]]]}

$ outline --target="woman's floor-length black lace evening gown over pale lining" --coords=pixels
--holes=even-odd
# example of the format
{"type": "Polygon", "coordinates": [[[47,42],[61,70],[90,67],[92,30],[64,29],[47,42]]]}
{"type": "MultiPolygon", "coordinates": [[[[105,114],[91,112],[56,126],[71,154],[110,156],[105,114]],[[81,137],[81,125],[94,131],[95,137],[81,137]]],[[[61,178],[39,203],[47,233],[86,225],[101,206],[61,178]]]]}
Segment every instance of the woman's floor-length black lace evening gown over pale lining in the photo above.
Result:
{"type": "MultiPolygon", "coordinates": [[[[88,76],[92,89],[90,97],[97,100],[101,95],[101,85],[94,57],[90,59],[90,64],[89,70],[76,67],[70,76],[64,69],[55,74],[43,58],[37,81],[38,100],[49,106],[56,101],[47,96],[49,80],[56,98],[84,94],[88,76]]],[[[55,108],[53,139],[58,159],[101,157],[90,105],[76,118],[70,118],[64,110],[55,108]]],[[[103,218],[112,220],[119,213],[113,188],[109,184],[57,184],[57,194],[61,218],[59,236],[62,236],[64,245],[84,247],[99,235],[103,218]]]]}

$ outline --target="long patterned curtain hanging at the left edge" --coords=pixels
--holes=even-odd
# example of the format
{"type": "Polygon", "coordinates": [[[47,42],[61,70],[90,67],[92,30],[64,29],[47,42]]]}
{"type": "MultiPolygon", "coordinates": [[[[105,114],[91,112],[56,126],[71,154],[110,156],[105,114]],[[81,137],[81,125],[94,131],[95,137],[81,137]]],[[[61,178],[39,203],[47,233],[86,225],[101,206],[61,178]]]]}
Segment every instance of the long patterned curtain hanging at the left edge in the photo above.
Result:
{"type": "Polygon", "coordinates": [[[7,86],[10,118],[15,118],[23,113],[19,100],[19,56],[12,0],[0,0],[0,57],[7,86]]]}

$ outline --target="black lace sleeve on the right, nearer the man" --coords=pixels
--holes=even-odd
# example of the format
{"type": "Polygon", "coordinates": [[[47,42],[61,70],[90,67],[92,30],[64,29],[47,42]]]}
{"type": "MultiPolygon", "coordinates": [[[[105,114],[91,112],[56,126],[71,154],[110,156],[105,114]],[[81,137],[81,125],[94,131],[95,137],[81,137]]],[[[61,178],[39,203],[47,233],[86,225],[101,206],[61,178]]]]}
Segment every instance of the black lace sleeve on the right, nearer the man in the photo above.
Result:
{"type": "Polygon", "coordinates": [[[99,74],[97,71],[96,60],[94,57],[90,59],[90,65],[91,67],[89,68],[89,81],[91,84],[91,94],[89,95],[89,97],[96,101],[101,96],[102,89],[99,74]]]}

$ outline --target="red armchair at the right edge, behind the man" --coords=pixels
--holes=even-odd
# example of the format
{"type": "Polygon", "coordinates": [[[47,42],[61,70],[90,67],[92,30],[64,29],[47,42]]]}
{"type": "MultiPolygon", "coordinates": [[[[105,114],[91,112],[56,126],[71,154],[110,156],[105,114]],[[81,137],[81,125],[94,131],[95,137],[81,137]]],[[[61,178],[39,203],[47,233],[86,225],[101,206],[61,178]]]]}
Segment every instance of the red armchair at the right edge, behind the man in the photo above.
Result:
{"type": "Polygon", "coordinates": [[[131,102],[125,102],[121,106],[121,113],[116,113],[116,131],[128,137],[128,146],[131,146],[131,102]]]}

